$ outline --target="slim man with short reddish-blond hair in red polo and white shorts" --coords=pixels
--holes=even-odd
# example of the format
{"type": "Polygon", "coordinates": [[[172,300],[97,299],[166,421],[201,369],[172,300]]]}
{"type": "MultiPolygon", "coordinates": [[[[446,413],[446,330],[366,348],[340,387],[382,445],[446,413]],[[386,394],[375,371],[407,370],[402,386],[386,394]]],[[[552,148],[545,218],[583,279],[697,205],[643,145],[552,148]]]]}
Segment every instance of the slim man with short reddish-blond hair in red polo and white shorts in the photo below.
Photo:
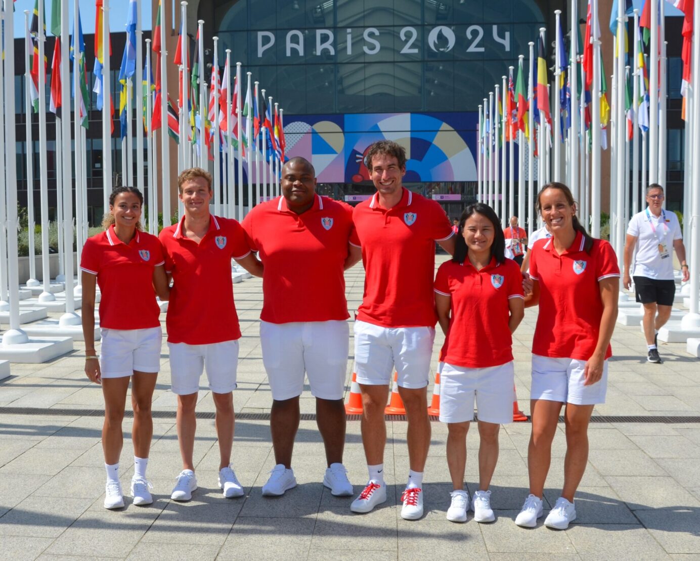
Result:
{"type": "Polygon", "coordinates": [[[165,270],[174,281],[166,318],[172,391],[178,397],[177,433],[183,471],[171,498],[188,501],[197,489],[193,448],[195,406],[200,376],[207,370],[216,406],[216,434],[221,464],[218,485],[224,497],[240,497],[243,488],[230,466],[234,432],[233,390],[236,388],[238,339],[241,336],[233,302],[231,260],[262,276],[262,264],[251,253],[236,220],[209,213],[211,175],[186,169],[178,178],[185,214],[162,229],[165,270]]]}

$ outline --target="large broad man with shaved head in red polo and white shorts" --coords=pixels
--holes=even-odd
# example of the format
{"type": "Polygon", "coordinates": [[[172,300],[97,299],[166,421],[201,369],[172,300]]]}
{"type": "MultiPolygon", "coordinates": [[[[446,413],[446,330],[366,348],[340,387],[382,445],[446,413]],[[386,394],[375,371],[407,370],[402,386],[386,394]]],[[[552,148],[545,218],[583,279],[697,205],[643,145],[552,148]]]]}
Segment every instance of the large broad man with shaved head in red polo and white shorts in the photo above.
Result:
{"type": "Polygon", "coordinates": [[[343,271],[359,260],[349,260],[352,208],[316,194],[314,166],[302,157],[284,164],[280,185],[281,197],[255,206],[243,221],[265,266],[260,346],[272,390],[275,467],[262,495],[283,495],[297,484],[291,460],[304,374],[325,445],[323,485],[332,495],[352,495],[342,464],[349,344],[343,271]]]}

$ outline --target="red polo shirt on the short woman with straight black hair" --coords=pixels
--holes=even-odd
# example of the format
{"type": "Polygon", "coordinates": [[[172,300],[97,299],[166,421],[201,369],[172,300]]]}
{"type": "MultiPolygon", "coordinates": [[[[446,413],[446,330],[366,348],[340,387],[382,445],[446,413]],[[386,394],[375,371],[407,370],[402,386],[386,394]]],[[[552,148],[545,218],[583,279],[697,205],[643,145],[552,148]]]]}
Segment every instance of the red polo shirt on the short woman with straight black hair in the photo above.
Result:
{"type": "Polygon", "coordinates": [[[523,298],[518,264],[506,259],[480,271],[465,260],[446,261],[437,269],[435,292],[451,297],[447,336],[440,355],[465,368],[488,368],[513,360],[508,329],[511,298],[523,298]]]}

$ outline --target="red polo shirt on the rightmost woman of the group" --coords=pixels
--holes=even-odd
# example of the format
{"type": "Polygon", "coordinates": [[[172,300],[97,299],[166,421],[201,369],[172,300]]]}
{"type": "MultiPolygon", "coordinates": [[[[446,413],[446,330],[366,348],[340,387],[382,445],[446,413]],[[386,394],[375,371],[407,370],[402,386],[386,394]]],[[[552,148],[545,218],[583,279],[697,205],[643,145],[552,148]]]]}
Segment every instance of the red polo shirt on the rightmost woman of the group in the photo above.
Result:
{"type": "MultiPolygon", "coordinates": [[[[535,242],[530,257],[530,276],[540,283],[535,355],[589,360],[596,349],[603,315],[598,282],[619,277],[619,268],[607,241],[595,239],[590,253],[583,244],[584,237],[577,232],[570,248],[559,255],[552,238],[535,242]]],[[[610,356],[608,345],[605,358],[610,356]]]]}

